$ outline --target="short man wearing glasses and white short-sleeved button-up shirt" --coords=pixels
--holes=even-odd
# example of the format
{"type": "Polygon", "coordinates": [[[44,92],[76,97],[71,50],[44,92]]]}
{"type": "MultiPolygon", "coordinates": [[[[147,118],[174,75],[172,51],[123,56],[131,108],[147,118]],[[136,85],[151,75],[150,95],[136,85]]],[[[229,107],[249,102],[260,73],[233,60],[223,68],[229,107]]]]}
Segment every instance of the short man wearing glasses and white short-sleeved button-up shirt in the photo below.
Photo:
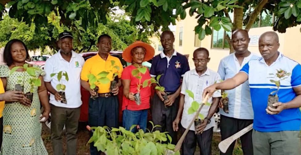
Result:
{"type": "MultiPolygon", "coordinates": [[[[193,62],[195,69],[187,71],[184,74],[182,88],[181,88],[181,97],[179,102],[179,110],[177,112],[177,117],[173,121],[173,130],[178,131],[178,124],[181,118],[181,132],[184,133],[185,129],[188,127],[191,120],[195,115],[195,112],[188,114],[188,109],[191,107],[193,99],[187,95],[185,90],[190,90],[194,94],[194,100],[198,103],[201,103],[203,89],[207,86],[214,84],[215,81],[219,82],[221,79],[217,72],[207,68],[207,63],[209,62],[209,51],[206,48],[197,48],[193,52],[193,62]],[[182,114],[183,113],[183,114],[182,114]]],[[[201,114],[205,117],[201,120],[201,124],[193,124],[185,137],[185,140],[182,144],[182,155],[191,155],[194,154],[196,149],[196,144],[200,148],[201,155],[211,154],[211,140],[213,135],[213,127],[215,125],[214,118],[212,117],[214,112],[218,107],[219,97],[221,97],[221,92],[216,91],[213,94],[213,97],[208,99],[208,102],[211,106],[204,105],[201,114]],[[195,134],[195,131],[200,134],[195,134]]],[[[201,119],[201,118],[199,118],[201,119]]]]}

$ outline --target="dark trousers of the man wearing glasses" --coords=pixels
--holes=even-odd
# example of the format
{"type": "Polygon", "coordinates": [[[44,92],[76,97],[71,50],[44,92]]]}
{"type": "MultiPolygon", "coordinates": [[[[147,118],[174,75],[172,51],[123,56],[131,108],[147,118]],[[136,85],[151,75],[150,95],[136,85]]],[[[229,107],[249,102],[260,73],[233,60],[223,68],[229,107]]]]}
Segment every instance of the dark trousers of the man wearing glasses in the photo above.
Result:
{"type": "MultiPolygon", "coordinates": [[[[181,127],[182,134],[185,132],[185,128],[181,127]]],[[[195,134],[194,131],[189,130],[181,148],[182,155],[194,154],[197,144],[200,148],[201,155],[211,154],[211,141],[213,136],[213,127],[204,131],[202,134],[195,134]]]]}

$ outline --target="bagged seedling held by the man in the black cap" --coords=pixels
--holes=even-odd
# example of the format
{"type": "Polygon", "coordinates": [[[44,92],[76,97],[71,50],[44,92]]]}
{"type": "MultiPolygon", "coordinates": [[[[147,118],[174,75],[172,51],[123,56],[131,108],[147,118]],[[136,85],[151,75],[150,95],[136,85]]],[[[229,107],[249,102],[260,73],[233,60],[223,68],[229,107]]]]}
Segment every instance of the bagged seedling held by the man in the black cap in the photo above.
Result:
{"type": "Polygon", "coordinates": [[[60,84],[56,85],[56,91],[59,91],[59,95],[62,97],[61,103],[67,104],[67,99],[65,95],[66,85],[63,84],[62,76],[65,76],[65,80],[68,81],[68,74],[67,71],[59,71],[58,73],[51,73],[50,77],[57,75],[57,79],[60,84]]]}

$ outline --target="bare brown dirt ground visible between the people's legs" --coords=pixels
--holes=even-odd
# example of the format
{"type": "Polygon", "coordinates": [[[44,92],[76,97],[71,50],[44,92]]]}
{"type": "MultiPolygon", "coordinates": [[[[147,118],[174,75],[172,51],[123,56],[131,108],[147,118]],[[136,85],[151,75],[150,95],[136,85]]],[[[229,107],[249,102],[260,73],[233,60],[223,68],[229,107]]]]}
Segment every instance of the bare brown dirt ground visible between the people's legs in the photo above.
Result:
{"type": "MultiPolygon", "coordinates": [[[[79,129],[77,131],[77,154],[78,155],[90,155],[89,146],[87,146],[87,141],[89,140],[89,132],[86,129],[86,122],[80,122],[79,123],[79,129]]],[[[178,135],[178,138],[180,138],[181,135],[178,135]]],[[[45,144],[45,147],[49,153],[49,155],[53,155],[52,147],[51,147],[51,134],[47,133],[47,131],[42,130],[42,138],[45,144]]],[[[218,133],[214,133],[213,139],[212,139],[212,155],[219,155],[219,149],[218,149],[218,143],[221,141],[220,135],[218,133]]],[[[66,138],[63,137],[63,148],[64,148],[64,154],[66,154],[66,138]]],[[[242,150],[240,149],[241,145],[238,142],[237,147],[234,149],[233,154],[234,155],[242,155],[242,150]]],[[[195,151],[195,155],[199,154],[199,148],[197,147],[195,151]]]]}

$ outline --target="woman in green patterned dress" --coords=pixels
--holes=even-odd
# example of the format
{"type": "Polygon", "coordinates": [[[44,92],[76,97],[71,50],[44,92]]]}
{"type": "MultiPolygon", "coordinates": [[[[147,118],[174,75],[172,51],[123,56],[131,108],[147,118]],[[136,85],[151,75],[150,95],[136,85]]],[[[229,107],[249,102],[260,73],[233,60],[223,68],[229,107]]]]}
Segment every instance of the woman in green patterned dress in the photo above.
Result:
{"type": "MultiPolygon", "coordinates": [[[[25,60],[29,59],[25,44],[18,39],[10,40],[5,46],[3,57],[6,65],[0,66],[0,77],[6,91],[14,90],[15,84],[24,81],[24,92],[29,92],[31,86],[27,80],[32,77],[31,75],[24,71],[23,68],[18,68],[10,75],[10,70],[13,67],[23,66],[26,63],[25,60]]],[[[37,65],[33,66],[40,68],[37,65]]],[[[19,102],[5,103],[3,110],[2,155],[48,154],[41,137],[42,124],[40,123],[42,117],[46,117],[46,120],[48,119],[50,112],[43,74],[42,68],[35,70],[35,76],[41,80],[41,86],[34,86],[31,104],[30,100],[25,96],[19,102]],[[45,109],[41,118],[40,105],[45,109]]]]}

